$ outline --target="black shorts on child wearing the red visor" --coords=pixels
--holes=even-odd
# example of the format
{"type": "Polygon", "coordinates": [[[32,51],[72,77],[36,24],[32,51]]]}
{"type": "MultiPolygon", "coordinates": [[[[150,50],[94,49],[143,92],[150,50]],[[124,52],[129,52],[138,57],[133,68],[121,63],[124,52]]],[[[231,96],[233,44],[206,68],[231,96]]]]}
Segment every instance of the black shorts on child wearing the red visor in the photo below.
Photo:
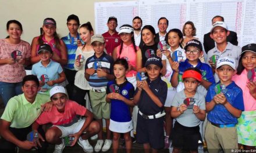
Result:
{"type": "Polygon", "coordinates": [[[187,127],[175,122],[172,131],[172,145],[174,148],[184,150],[197,150],[198,140],[201,139],[200,128],[198,126],[187,127]]]}

